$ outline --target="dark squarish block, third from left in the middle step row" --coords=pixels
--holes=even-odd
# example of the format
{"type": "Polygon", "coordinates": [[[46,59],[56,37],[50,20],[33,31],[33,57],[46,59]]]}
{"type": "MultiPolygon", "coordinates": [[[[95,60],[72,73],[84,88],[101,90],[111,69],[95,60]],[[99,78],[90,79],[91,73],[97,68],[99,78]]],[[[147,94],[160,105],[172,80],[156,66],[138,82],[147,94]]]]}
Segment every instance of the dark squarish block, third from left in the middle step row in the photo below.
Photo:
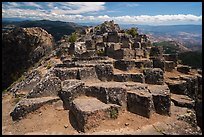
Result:
{"type": "Polygon", "coordinates": [[[109,64],[99,64],[95,66],[96,74],[101,81],[111,81],[113,78],[113,66],[109,64]]]}

